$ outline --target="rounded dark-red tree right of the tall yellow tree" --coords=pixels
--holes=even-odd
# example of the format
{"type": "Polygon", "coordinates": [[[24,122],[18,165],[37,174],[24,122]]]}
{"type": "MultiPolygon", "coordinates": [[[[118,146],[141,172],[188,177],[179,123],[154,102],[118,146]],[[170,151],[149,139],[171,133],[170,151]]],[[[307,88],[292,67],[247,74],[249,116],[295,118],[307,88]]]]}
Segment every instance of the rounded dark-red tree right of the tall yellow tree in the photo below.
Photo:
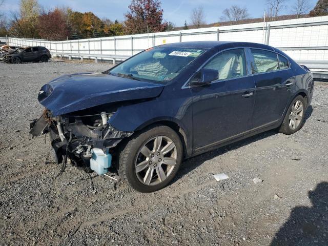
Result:
{"type": "Polygon", "coordinates": [[[63,40],[69,35],[65,14],[60,9],[40,15],[37,28],[41,38],[63,40]]]}

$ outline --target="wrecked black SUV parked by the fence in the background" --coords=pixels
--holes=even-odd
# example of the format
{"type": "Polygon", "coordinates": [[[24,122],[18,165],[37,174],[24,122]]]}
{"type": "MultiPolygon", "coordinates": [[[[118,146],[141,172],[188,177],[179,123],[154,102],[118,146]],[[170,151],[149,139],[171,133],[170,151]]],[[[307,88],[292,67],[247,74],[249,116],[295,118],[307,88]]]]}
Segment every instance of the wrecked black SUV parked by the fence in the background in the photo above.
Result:
{"type": "Polygon", "coordinates": [[[50,51],[46,47],[35,46],[26,47],[25,49],[17,49],[6,55],[4,61],[15,64],[29,61],[47,62],[50,57],[50,51]]]}

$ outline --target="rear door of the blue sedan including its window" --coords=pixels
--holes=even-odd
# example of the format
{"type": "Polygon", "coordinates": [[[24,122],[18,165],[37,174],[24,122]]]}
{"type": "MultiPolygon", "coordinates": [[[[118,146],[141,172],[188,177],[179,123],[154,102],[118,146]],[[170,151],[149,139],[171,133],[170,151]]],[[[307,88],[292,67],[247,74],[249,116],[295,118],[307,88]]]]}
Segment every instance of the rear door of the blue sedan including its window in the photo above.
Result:
{"type": "Polygon", "coordinates": [[[283,115],[292,95],[294,73],[286,57],[269,50],[249,49],[255,80],[253,128],[274,124],[283,115]]]}

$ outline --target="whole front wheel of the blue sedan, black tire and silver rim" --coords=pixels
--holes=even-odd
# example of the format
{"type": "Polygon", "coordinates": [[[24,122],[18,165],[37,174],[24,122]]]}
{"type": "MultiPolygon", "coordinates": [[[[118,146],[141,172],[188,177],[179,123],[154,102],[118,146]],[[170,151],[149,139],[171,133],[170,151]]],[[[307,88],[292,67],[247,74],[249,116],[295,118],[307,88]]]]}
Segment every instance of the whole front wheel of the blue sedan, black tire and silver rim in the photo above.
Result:
{"type": "Polygon", "coordinates": [[[167,126],[153,126],[132,136],[122,146],[118,173],[139,192],[158,191],[176,175],[182,154],[181,140],[175,131],[167,126]]]}

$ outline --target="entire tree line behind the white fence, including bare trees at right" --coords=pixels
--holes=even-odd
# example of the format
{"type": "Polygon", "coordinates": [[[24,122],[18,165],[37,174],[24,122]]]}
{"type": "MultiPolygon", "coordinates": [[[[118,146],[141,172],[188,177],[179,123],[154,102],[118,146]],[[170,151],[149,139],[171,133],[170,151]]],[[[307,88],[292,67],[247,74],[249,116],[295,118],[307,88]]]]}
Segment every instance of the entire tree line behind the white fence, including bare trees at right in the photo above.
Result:
{"type": "MultiPolygon", "coordinates": [[[[6,0],[0,0],[0,9],[6,0]]],[[[267,0],[267,20],[277,20],[281,11],[291,0],[267,0]]],[[[328,14],[328,0],[319,0],[310,11],[307,0],[294,0],[291,14],[299,18],[304,15],[328,14]],[[310,11],[310,13],[309,13],[310,11]],[[309,14],[308,14],[309,13],[309,14]]],[[[20,0],[19,11],[12,12],[10,20],[0,12],[0,36],[44,38],[49,40],[80,39],[101,36],[119,36],[147,32],[172,31],[206,25],[206,13],[202,6],[191,11],[190,24],[185,20],[182,28],[163,19],[160,0],[131,0],[124,22],[100,19],[92,12],[81,13],[69,7],[46,10],[37,0],[20,0]]],[[[241,24],[249,19],[246,7],[232,5],[222,11],[221,23],[241,24]]],[[[216,24],[220,25],[220,23],[216,24]]]]}

